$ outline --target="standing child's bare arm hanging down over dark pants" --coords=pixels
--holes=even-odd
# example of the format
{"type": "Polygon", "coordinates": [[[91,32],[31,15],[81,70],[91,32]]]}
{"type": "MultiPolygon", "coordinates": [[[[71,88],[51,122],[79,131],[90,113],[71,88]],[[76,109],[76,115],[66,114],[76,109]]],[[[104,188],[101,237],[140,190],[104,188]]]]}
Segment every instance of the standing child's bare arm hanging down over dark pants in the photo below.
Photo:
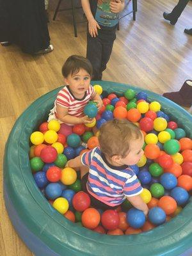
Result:
{"type": "Polygon", "coordinates": [[[88,20],[88,31],[92,37],[96,37],[98,35],[97,29],[100,29],[99,24],[94,19],[89,0],[81,0],[81,4],[83,7],[83,12],[86,15],[86,19],[88,20]]]}

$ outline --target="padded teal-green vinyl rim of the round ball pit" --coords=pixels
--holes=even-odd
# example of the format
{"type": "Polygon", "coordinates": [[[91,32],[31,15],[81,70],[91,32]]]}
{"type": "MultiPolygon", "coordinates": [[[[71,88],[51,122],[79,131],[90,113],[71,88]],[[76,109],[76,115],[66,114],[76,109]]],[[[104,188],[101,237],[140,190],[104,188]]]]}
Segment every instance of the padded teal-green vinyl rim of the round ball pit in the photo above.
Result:
{"type": "MultiPolygon", "coordinates": [[[[108,93],[123,93],[128,84],[96,81],[108,93]]],[[[173,220],[148,232],[131,236],[106,236],[71,223],[55,211],[36,187],[29,164],[29,136],[46,120],[60,88],[35,100],[13,126],[4,153],[4,184],[20,219],[36,237],[59,255],[180,255],[192,244],[192,202],[173,220]]],[[[168,99],[147,90],[150,101],[157,100],[163,110],[176,116],[179,127],[191,138],[192,116],[168,99]]]]}

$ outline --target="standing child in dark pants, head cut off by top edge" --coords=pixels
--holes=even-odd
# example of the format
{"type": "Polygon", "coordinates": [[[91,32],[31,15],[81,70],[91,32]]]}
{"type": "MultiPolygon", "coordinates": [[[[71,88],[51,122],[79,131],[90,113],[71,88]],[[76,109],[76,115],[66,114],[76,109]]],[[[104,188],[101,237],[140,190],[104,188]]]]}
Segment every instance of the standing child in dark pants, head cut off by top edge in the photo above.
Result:
{"type": "Polygon", "coordinates": [[[81,0],[88,20],[86,58],[93,65],[93,80],[101,80],[116,38],[118,13],[124,0],[81,0]]]}

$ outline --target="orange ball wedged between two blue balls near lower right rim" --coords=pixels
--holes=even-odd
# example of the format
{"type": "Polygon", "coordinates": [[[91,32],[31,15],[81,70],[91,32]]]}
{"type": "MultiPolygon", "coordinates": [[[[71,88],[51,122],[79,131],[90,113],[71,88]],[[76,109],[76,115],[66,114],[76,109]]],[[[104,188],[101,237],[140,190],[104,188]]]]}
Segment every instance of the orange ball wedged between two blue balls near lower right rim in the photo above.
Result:
{"type": "Polygon", "coordinates": [[[170,215],[176,211],[177,202],[172,196],[162,196],[159,199],[158,206],[161,207],[167,215],[170,215]]]}

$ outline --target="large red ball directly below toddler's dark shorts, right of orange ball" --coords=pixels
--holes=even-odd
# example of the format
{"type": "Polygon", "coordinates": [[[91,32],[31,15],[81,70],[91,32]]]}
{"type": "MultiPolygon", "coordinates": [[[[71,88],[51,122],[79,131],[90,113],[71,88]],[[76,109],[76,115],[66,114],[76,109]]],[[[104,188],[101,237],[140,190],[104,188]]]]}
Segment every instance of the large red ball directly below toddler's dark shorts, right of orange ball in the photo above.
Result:
{"type": "Polygon", "coordinates": [[[118,225],[120,223],[118,212],[114,210],[104,211],[101,216],[101,223],[103,227],[108,230],[113,230],[118,228],[118,225]]]}

